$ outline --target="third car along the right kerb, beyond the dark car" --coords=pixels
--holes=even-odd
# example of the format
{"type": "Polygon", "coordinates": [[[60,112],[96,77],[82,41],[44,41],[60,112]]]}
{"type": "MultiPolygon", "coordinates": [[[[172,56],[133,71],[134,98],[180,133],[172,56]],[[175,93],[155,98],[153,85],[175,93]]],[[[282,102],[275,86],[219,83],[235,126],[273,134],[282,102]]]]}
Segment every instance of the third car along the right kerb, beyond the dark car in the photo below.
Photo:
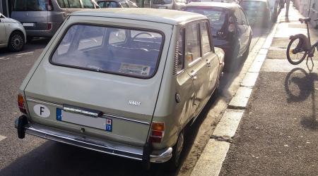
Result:
{"type": "Polygon", "coordinates": [[[268,27],[275,18],[267,0],[244,0],[241,3],[251,25],[268,27]]]}

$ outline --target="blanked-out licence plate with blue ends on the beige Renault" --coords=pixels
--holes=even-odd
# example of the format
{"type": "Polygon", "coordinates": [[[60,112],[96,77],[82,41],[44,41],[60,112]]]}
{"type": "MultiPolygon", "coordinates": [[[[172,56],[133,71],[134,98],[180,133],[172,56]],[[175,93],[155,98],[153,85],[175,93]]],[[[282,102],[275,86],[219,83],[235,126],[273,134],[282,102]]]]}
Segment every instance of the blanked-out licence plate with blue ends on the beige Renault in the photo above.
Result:
{"type": "Polygon", "coordinates": [[[112,132],[112,119],[109,118],[92,118],[77,113],[69,113],[57,108],[57,120],[112,132]]]}

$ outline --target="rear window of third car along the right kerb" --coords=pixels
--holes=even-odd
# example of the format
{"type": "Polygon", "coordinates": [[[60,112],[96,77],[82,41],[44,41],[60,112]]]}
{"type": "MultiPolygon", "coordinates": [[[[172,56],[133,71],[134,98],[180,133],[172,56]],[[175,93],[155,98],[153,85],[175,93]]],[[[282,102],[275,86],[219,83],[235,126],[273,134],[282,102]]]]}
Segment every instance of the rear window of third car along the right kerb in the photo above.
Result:
{"type": "Polygon", "coordinates": [[[243,1],[241,6],[247,13],[247,16],[252,18],[254,16],[263,15],[262,12],[264,12],[266,8],[266,3],[261,1],[243,1]]]}

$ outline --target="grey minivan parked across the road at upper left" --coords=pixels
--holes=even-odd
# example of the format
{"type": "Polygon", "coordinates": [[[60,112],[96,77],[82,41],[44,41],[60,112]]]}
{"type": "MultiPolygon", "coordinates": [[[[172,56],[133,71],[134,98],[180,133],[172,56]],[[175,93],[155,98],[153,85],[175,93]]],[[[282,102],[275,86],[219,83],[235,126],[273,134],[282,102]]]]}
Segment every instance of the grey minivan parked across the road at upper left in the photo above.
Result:
{"type": "Polygon", "coordinates": [[[93,0],[14,0],[11,18],[20,21],[29,37],[52,37],[65,18],[83,8],[99,8],[93,0]]]}

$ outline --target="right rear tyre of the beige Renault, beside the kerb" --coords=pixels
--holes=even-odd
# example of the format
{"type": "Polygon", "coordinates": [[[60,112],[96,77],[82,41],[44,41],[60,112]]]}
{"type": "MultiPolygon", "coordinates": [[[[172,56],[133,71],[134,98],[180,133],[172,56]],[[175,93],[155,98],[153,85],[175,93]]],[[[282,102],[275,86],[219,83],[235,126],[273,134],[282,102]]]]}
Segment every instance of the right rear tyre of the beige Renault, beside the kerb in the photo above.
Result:
{"type": "Polygon", "coordinates": [[[174,172],[179,168],[180,156],[182,153],[182,149],[184,147],[184,130],[179,133],[177,143],[172,148],[172,158],[170,161],[167,161],[167,170],[170,172],[174,172]]]}

